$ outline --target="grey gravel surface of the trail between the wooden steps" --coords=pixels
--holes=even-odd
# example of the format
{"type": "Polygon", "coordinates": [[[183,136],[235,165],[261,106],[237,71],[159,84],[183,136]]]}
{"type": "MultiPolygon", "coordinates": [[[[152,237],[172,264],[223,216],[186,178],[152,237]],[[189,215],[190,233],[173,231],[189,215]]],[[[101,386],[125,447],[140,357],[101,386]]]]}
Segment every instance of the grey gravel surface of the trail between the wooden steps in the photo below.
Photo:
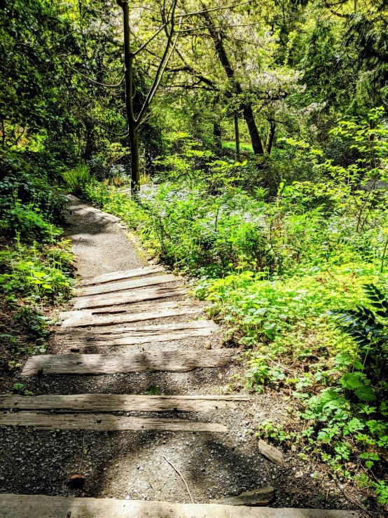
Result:
{"type": "MultiPolygon", "coordinates": [[[[73,242],[76,268],[81,278],[147,265],[144,254],[128,239],[114,219],[102,217],[92,207],[71,198],[67,235],[73,242]]],[[[169,283],[181,285],[182,280],[169,283]]],[[[195,318],[207,318],[206,303],[195,318]]],[[[190,318],[190,315],[189,315],[190,318]]],[[[187,322],[188,315],[158,319],[158,324],[187,322]]],[[[151,322],[155,324],[155,320],[151,322]]],[[[128,325],[127,325],[128,326],[128,325]]],[[[131,327],[144,326],[144,322],[131,327]]],[[[116,327],[125,327],[118,325],[116,327]]],[[[222,334],[181,341],[130,346],[141,350],[205,350],[222,346],[222,334]]],[[[128,350],[115,348],[115,353],[128,350]]],[[[55,334],[48,353],[66,353],[67,346],[55,334]]],[[[104,348],[98,352],[104,353],[104,348]]],[[[25,383],[34,395],[144,394],[150,388],[158,395],[220,395],[233,393],[233,376],[242,373],[238,360],[226,367],[195,369],[192,372],[130,373],[104,376],[36,376],[18,374],[13,383],[25,383]]],[[[247,395],[247,393],[245,393],[247,395]]],[[[249,394],[249,402],[235,409],[193,412],[181,418],[222,423],[228,432],[99,432],[84,430],[36,430],[0,428],[5,446],[0,463],[0,492],[52,496],[88,496],[189,503],[181,477],[165,460],[176,466],[186,480],[195,502],[210,503],[265,486],[275,487],[274,507],[354,509],[340,486],[326,477],[324,465],[285,454],[280,468],[258,452],[254,431],[263,421],[289,419],[288,398],[283,393],[249,394]],[[252,431],[253,430],[253,431],[252,431]],[[69,478],[80,473],[83,489],[70,489],[69,478]]],[[[123,412],[117,412],[123,415],[123,412]]],[[[125,414],[124,414],[125,415],[125,414]]],[[[176,412],[131,412],[131,416],[174,418],[176,412]]],[[[352,500],[359,500],[352,494],[352,500]]]]}

